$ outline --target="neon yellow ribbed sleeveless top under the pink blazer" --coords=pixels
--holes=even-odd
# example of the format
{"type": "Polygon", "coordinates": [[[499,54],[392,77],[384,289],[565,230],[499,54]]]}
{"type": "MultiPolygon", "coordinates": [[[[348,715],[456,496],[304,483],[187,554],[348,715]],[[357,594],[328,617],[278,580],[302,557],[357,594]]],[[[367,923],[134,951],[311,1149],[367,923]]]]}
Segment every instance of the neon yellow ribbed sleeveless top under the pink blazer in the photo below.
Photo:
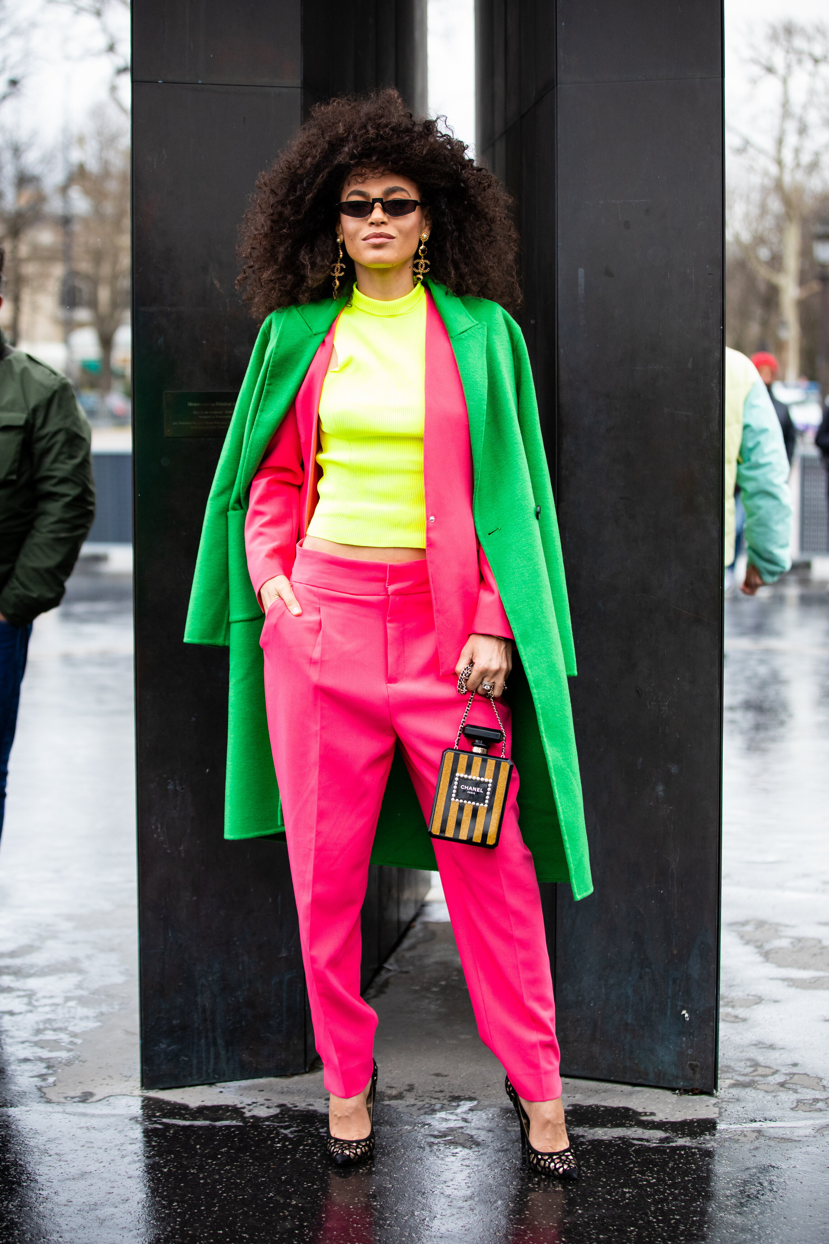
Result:
{"type": "Polygon", "coordinates": [[[357,287],[334,333],[319,398],[319,503],[308,535],[375,549],[425,549],[423,429],[426,291],[393,302],[357,287]]]}

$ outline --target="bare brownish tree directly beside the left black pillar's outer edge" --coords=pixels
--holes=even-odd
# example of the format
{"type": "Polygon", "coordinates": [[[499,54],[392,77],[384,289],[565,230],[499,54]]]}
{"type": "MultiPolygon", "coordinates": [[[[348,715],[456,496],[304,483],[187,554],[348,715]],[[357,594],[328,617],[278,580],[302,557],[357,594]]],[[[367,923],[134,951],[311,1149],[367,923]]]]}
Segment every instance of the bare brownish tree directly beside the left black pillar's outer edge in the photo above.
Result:
{"type": "Polygon", "coordinates": [[[101,342],[98,387],[112,388],[112,342],[129,307],[129,146],[123,119],[108,107],[92,113],[80,139],[82,158],[71,185],[82,195],[75,256],[88,287],[89,315],[101,342]]]}

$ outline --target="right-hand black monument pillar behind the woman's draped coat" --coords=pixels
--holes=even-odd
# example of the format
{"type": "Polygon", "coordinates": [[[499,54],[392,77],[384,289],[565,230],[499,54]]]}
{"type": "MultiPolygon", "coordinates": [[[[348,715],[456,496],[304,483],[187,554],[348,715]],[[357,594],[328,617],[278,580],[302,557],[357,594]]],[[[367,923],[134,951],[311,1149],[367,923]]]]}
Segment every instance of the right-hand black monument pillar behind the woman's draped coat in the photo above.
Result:
{"type": "Polygon", "coordinates": [[[477,0],[515,194],[595,893],[558,886],[562,1070],[717,1080],[721,0],[477,0]]]}

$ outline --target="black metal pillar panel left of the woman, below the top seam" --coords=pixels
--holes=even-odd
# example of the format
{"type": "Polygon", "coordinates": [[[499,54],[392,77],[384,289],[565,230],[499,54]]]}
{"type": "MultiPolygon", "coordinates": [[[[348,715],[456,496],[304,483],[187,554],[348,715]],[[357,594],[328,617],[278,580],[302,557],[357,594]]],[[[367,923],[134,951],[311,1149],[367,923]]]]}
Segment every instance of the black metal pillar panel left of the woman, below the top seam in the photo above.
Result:
{"type": "Polygon", "coordinates": [[[221,439],[165,438],[162,401],[241,383],[236,225],[300,92],[135,83],[133,101],[142,1059],[162,1087],[306,1065],[287,852],[222,840],[226,652],[181,642],[221,439]]]}

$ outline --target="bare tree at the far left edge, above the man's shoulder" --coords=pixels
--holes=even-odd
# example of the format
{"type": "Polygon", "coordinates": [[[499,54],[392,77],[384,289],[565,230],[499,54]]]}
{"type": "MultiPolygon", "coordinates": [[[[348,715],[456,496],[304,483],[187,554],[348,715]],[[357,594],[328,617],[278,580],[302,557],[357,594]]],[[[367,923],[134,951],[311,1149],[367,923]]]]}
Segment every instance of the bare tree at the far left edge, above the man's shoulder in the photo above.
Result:
{"type": "Polygon", "coordinates": [[[24,292],[22,244],[26,234],[41,219],[46,193],[42,159],[35,154],[32,138],[0,136],[0,240],[9,261],[9,301],[11,338],[20,340],[20,307],[24,292]]]}

